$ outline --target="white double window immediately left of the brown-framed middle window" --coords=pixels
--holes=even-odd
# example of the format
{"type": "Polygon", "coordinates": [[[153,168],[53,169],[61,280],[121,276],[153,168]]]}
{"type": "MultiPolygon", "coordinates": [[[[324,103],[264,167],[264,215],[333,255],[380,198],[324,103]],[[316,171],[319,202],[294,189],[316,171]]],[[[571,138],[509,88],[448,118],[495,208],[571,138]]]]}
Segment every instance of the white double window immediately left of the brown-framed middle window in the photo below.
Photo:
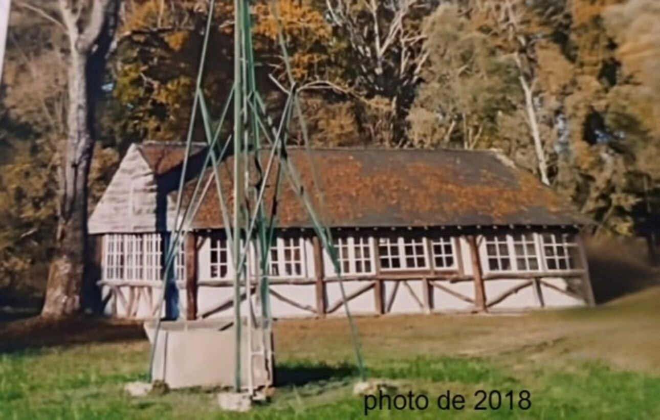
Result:
{"type": "MultiPolygon", "coordinates": [[[[334,244],[337,248],[337,258],[339,260],[339,267],[341,267],[342,276],[356,276],[356,275],[375,275],[376,274],[376,244],[372,236],[344,236],[341,238],[335,238],[334,244]],[[360,246],[362,251],[367,249],[369,251],[369,256],[364,257],[364,252],[359,258],[359,262],[362,263],[362,271],[358,271],[355,250],[356,247],[360,246]],[[342,248],[347,249],[347,257],[343,258],[342,248]],[[369,262],[370,270],[364,270],[366,262],[369,262]],[[348,270],[345,267],[348,266],[348,270]]],[[[327,250],[323,250],[323,262],[325,265],[325,272],[328,274],[328,277],[338,277],[338,273],[335,270],[335,265],[333,264],[327,250]]]]}

